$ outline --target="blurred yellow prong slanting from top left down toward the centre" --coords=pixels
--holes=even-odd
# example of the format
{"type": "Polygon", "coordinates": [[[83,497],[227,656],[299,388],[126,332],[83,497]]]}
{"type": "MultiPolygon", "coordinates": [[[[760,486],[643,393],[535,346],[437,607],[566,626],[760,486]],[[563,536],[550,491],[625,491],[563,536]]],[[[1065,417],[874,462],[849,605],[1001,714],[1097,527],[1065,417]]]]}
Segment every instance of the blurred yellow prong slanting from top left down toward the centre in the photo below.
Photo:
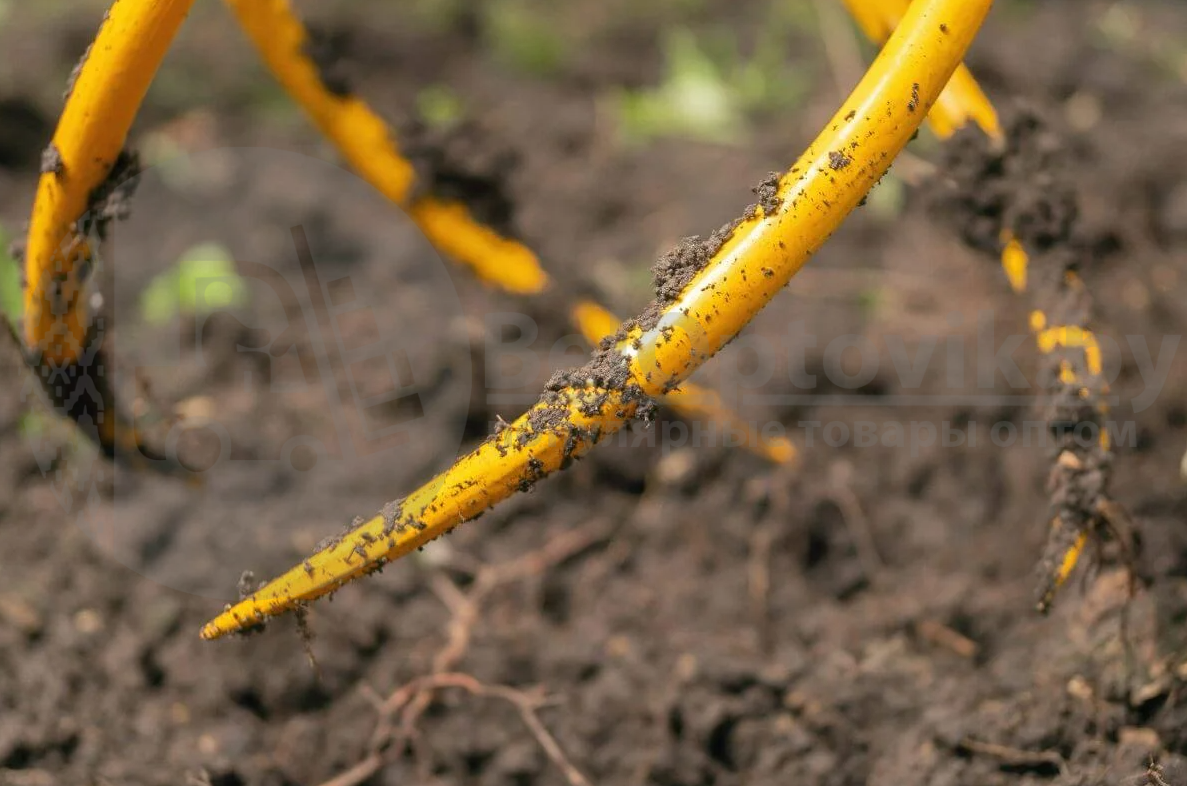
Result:
{"type": "Polygon", "coordinates": [[[532,294],[547,286],[531,248],[484,226],[461,202],[414,195],[415,172],[393,131],[360,97],[326,88],[306,52],[309,33],[287,0],[226,1],[288,95],[361,177],[408,213],[430,242],[509,292],[532,294]]]}

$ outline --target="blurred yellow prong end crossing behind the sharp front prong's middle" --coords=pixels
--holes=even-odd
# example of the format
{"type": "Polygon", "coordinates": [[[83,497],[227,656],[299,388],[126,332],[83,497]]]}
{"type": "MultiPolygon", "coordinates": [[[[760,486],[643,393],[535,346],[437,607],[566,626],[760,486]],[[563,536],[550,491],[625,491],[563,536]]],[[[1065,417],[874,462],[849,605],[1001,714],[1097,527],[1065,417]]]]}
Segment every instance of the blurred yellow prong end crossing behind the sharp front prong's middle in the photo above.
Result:
{"type": "MultiPolygon", "coordinates": [[[[585,341],[595,347],[607,336],[617,332],[622,325],[622,319],[592,300],[582,300],[573,306],[572,317],[585,341]]],[[[660,397],[659,402],[672,407],[677,414],[687,420],[707,421],[728,429],[731,435],[740,436],[741,448],[776,464],[789,464],[798,456],[791,439],[781,435],[763,435],[754,424],[743,420],[725,406],[716,391],[696,382],[681,382],[680,387],[660,397]]]]}

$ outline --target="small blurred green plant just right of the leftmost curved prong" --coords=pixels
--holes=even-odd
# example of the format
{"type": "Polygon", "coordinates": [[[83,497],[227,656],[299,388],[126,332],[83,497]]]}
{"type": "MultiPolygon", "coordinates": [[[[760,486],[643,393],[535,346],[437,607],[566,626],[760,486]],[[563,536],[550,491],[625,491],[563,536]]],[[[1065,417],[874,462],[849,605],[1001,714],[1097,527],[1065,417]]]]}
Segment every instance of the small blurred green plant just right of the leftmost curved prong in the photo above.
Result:
{"type": "Polygon", "coordinates": [[[145,287],[140,317],[159,325],[177,316],[202,316],[247,302],[247,284],[235,272],[230,252],[218,243],[199,243],[145,287]]]}

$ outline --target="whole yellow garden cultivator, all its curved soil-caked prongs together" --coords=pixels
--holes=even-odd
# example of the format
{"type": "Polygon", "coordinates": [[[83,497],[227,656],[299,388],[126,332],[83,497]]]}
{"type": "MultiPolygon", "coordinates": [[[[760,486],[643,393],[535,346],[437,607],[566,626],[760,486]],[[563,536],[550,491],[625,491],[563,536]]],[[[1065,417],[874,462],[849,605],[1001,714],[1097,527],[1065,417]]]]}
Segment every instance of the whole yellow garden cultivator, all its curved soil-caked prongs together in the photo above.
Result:
{"type": "MultiPolygon", "coordinates": [[[[418,183],[417,169],[387,123],[318,61],[315,39],[287,0],[227,0],[227,5],[285,90],[343,158],[406,210],[437,248],[508,292],[532,294],[550,287],[527,245],[483,223],[464,202],[418,183]]],[[[255,625],[377,570],[563,469],[631,419],[649,418],[655,401],[737,430],[749,449],[774,462],[794,461],[791,442],[755,433],[718,395],[687,378],[787,284],[925,119],[944,139],[975,122],[996,148],[1008,142],[992,104],[961,62],[990,0],[845,0],[845,5],[863,32],[886,46],[813,146],[791,170],[757,189],[758,205],[665,255],[655,267],[656,299],[637,318],[620,327],[597,304],[576,304],[575,322],[599,346],[585,367],[554,375],[527,413],[429,484],[353,526],[228,609],[203,629],[203,636],[255,625]]],[[[102,321],[90,313],[85,279],[107,224],[126,211],[137,159],[125,151],[125,140],[189,7],[186,0],[123,0],[113,6],[71,78],[62,119],[43,157],[27,239],[26,356],[36,368],[53,372],[55,379],[63,368],[81,369],[72,385],[53,385],[49,373],[42,374],[43,382],[55,404],[90,426],[114,457],[159,458],[150,455],[134,427],[123,425],[112,385],[99,370],[102,321]]],[[[1003,226],[998,251],[1010,287],[1020,294],[1030,292],[1027,239],[1003,226]]],[[[1058,286],[1061,303],[1086,298],[1083,280],[1071,270],[1058,286]]],[[[1067,418],[1079,424],[1080,416],[1097,421],[1106,413],[1100,348],[1083,322],[1084,312],[1036,308],[1030,317],[1039,351],[1054,362],[1053,429],[1067,418]]],[[[1085,483],[1096,482],[1093,473],[1107,475],[1107,431],[1100,430],[1092,451],[1066,448],[1052,468],[1056,512],[1043,559],[1039,601],[1043,610],[1104,526],[1091,511],[1109,501],[1103,492],[1080,499],[1087,493],[1085,483]]]]}

